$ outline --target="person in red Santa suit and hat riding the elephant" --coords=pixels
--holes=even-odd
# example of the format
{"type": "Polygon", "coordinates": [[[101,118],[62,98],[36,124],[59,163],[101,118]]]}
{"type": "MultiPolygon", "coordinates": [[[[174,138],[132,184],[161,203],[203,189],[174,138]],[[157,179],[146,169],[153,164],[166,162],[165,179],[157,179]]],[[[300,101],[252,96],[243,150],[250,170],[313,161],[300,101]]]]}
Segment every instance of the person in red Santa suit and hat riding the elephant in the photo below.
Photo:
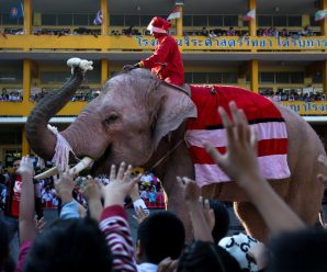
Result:
{"type": "Polygon", "coordinates": [[[159,79],[168,83],[182,86],[184,83],[184,66],[174,38],[168,35],[170,26],[171,23],[167,20],[155,16],[147,27],[158,41],[154,55],[135,65],[125,65],[123,69],[151,69],[151,72],[159,79]]]}

